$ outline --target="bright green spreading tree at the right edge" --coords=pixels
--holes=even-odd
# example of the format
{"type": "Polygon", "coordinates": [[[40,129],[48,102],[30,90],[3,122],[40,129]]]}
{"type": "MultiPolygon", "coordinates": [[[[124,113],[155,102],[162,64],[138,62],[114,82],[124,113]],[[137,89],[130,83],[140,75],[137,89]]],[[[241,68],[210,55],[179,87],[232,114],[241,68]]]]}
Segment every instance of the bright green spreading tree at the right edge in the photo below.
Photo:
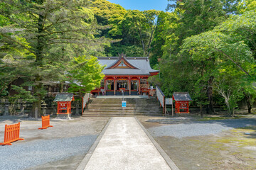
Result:
{"type": "Polygon", "coordinates": [[[215,67],[208,72],[215,77],[215,90],[225,99],[230,115],[243,96],[250,112],[253,95],[249,91],[256,78],[251,36],[255,23],[255,11],[249,11],[230,17],[213,30],[186,38],[182,45],[181,54],[188,52],[193,61],[214,59],[215,67]]]}

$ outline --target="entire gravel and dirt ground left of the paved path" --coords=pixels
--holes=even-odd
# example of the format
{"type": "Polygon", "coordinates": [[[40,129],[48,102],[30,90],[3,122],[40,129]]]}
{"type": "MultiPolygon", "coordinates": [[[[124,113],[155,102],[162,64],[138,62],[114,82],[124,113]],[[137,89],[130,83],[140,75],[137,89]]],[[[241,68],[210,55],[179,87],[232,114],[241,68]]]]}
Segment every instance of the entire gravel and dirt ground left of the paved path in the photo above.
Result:
{"type": "Polygon", "coordinates": [[[110,118],[56,120],[53,128],[41,128],[41,119],[26,116],[0,116],[0,142],[4,141],[4,125],[21,123],[23,141],[0,146],[0,170],[6,169],[76,169],[110,118]]]}

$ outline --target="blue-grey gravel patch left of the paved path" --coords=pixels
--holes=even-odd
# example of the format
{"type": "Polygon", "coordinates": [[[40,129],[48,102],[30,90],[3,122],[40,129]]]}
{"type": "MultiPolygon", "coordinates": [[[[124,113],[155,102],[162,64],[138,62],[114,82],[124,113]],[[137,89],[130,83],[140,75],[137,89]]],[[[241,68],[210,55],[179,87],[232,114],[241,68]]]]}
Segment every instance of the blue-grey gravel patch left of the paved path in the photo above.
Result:
{"type": "Polygon", "coordinates": [[[1,147],[0,169],[26,169],[54,162],[77,154],[85,154],[97,135],[33,141],[26,144],[1,147]],[[15,160],[15,161],[14,161],[15,160]]]}

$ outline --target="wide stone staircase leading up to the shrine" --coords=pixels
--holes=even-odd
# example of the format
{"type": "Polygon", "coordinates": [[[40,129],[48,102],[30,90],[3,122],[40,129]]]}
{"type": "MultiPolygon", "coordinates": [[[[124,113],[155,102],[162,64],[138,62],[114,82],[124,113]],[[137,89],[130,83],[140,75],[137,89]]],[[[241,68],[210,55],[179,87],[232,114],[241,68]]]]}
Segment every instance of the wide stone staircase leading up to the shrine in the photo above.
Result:
{"type": "Polygon", "coordinates": [[[122,98],[92,98],[82,116],[161,116],[163,108],[156,98],[124,98],[127,107],[122,108],[122,98]]]}

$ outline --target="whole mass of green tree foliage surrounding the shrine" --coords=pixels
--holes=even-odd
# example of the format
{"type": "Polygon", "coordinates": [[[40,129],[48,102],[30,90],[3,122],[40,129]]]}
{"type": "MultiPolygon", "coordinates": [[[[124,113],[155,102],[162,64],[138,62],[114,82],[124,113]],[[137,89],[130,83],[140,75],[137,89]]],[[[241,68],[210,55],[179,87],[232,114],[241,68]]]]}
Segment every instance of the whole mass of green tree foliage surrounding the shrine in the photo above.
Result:
{"type": "Polygon", "coordinates": [[[81,95],[103,77],[92,56],[124,52],[149,56],[160,70],[149,81],[166,96],[188,91],[194,106],[225,103],[230,115],[243,98],[252,105],[255,1],[169,1],[171,12],[125,10],[105,0],[1,1],[0,94],[22,78],[33,81],[35,93],[14,86],[16,97],[41,101],[44,84],[69,75],[69,91],[81,95]]]}

